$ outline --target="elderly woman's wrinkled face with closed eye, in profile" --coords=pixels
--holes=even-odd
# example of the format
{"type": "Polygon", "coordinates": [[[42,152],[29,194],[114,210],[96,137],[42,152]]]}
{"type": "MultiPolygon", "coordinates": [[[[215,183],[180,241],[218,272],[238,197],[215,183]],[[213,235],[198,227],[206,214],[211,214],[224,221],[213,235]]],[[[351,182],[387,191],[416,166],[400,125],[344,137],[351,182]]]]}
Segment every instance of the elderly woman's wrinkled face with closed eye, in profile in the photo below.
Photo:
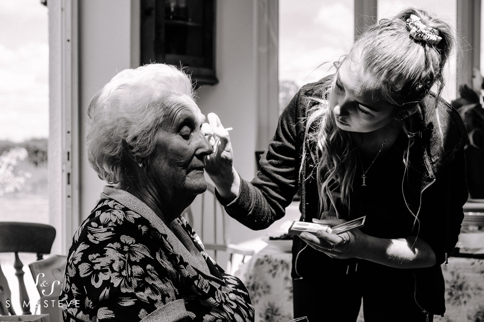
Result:
{"type": "Polygon", "coordinates": [[[204,156],[212,153],[212,147],[200,131],[204,120],[197,104],[181,96],[158,130],[147,170],[166,197],[198,195],[207,189],[204,156]]]}

